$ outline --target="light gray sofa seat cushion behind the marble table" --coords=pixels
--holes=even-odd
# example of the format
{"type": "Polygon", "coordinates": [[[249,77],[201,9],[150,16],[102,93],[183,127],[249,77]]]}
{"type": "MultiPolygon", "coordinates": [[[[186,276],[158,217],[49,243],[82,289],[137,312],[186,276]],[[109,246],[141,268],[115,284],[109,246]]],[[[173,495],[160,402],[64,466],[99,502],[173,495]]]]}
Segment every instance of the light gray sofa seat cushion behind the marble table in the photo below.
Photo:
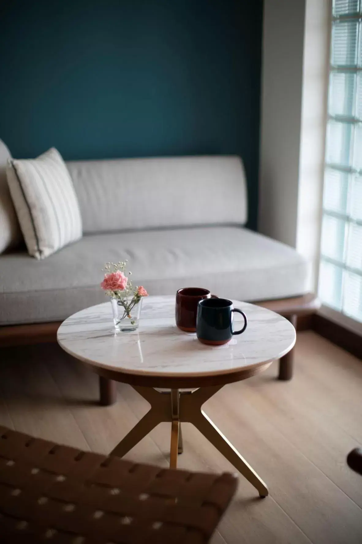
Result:
{"type": "Polygon", "coordinates": [[[308,265],[289,246],[243,227],[195,227],[85,236],[36,261],[0,256],[0,324],[58,321],[104,302],[107,261],[128,259],[134,285],[149,294],[206,287],[256,301],[307,291],[308,265]]]}

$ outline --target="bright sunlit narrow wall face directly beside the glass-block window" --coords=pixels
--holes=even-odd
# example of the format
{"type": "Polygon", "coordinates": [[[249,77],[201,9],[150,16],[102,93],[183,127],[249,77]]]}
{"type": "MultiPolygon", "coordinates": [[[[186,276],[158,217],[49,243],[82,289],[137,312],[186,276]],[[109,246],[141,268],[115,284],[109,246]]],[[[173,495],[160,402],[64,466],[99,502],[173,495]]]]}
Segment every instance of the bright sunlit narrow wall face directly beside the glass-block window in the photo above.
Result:
{"type": "Polygon", "coordinates": [[[296,249],[311,263],[310,285],[315,290],[325,163],[330,14],[329,0],[307,0],[296,249]]]}

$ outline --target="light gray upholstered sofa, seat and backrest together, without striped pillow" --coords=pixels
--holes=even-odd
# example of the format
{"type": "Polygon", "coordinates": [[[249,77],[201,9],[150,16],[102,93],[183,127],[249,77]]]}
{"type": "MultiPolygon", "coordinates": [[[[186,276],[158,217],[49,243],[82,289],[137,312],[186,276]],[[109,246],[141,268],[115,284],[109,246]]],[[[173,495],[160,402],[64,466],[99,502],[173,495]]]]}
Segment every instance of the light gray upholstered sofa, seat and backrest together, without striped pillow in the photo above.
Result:
{"type": "MultiPolygon", "coordinates": [[[[313,296],[306,298],[308,263],[289,246],[245,228],[240,158],[89,160],[67,167],[84,236],[43,261],[21,247],[0,255],[0,345],[8,334],[28,338],[45,330],[35,324],[58,327],[103,302],[99,284],[107,261],[128,259],[134,283],[150,294],[206,287],[227,298],[279,301],[269,307],[289,318],[313,307],[313,296]]],[[[284,379],[291,377],[288,361],[284,379]]]]}

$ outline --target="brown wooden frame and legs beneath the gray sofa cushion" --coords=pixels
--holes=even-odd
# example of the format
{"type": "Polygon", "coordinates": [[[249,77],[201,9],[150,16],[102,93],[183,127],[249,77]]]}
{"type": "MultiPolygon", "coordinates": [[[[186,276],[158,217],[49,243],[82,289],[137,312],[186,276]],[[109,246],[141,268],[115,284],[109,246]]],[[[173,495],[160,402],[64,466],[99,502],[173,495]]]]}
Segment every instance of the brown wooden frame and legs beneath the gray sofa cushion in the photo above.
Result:
{"type": "MultiPolygon", "coordinates": [[[[313,293],[288,299],[256,302],[256,304],[281,314],[281,316],[289,319],[296,329],[299,318],[311,316],[320,307],[320,302],[313,293]]],[[[56,331],[58,331],[60,325],[61,322],[59,321],[53,323],[1,326],[0,347],[56,342],[56,331]]],[[[278,379],[290,380],[293,377],[293,364],[294,349],[289,351],[284,357],[281,357],[278,379]]],[[[115,403],[117,398],[116,383],[100,377],[99,394],[102,405],[109,406],[115,403]]]]}

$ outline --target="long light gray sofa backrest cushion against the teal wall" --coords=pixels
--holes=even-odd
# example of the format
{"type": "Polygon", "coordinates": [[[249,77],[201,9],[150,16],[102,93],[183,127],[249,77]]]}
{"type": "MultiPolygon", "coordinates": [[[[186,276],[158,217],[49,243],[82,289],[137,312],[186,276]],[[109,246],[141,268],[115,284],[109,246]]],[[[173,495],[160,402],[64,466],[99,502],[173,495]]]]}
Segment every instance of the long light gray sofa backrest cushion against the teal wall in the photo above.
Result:
{"type": "Polygon", "coordinates": [[[77,160],[67,166],[84,233],[246,222],[239,157],[77,160]]]}

